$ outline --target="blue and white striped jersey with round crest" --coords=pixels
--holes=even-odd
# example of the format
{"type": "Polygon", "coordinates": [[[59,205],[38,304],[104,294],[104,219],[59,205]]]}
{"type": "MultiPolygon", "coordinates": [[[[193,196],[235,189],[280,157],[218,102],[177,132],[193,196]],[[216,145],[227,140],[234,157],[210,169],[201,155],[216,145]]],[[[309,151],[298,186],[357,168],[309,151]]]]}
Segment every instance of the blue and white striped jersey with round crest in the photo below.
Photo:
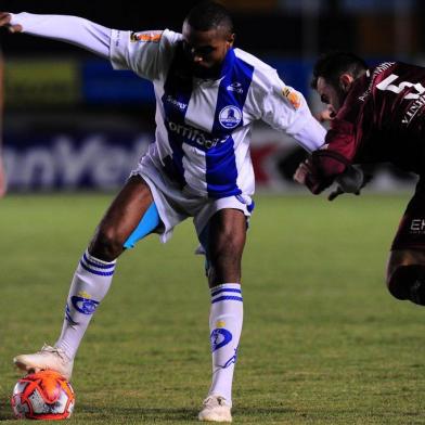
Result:
{"type": "Polygon", "coordinates": [[[325,130],[304,96],[278,73],[240,49],[230,49],[217,80],[194,78],[184,66],[181,34],[113,30],[114,68],[150,79],[156,96],[155,149],[150,155],[194,196],[221,198],[254,193],[252,125],[262,119],[294,136],[307,150],[323,144],[325,130]]]}

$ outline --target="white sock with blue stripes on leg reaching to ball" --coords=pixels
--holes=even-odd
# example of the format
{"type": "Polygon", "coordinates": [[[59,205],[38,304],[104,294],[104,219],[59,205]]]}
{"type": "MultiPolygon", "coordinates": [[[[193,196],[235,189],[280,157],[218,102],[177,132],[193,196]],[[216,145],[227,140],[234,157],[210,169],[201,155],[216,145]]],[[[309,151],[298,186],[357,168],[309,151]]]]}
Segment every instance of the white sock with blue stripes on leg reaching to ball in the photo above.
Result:
{"type": "Polygon", "coordinates": [[[66,300],[62,333],[54,345],[62,348],[72,360],[95,309],[111,286],[115,263],[116,260],[99,260],[86,250],[75,271],[66,300]]]}

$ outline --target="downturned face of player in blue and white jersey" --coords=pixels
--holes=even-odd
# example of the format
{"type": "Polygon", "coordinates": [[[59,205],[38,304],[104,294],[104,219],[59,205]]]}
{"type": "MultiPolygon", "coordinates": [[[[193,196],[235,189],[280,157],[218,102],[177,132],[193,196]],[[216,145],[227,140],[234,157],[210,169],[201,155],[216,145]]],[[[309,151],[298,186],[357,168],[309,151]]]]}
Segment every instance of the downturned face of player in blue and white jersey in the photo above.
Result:
{"type": "Polygon", "coordinates": [[[195,75],[217,78],[228,50],[233,46],[234,35],[224,28],[199,31],[186,22],[183,24],[183,49],[191,61],[195,75]]]}

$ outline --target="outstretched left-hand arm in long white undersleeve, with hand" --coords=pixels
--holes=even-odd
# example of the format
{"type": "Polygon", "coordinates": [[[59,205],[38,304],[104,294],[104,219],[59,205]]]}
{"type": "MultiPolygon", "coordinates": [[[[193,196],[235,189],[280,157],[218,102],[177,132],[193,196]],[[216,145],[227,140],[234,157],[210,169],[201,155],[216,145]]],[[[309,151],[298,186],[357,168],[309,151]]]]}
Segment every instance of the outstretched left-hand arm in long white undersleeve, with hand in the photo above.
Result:
{"type": "Polygon", "coordinates": [[[78,16],[0,12],[0,26],[12,33],[47,37],[110,56],[112,29],[78,16]]]}

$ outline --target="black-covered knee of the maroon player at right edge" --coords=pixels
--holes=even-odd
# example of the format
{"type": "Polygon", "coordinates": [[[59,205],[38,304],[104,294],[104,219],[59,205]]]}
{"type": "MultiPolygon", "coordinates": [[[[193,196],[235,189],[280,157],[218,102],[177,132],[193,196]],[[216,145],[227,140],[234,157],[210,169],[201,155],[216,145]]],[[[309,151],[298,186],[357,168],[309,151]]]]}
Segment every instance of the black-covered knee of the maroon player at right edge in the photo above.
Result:
{"type": "Polygon", "coordinates": [[[409,299],[425,306],[425,266],[399,266],[390,275],[387,285],[397,299],[409,299]]]}

